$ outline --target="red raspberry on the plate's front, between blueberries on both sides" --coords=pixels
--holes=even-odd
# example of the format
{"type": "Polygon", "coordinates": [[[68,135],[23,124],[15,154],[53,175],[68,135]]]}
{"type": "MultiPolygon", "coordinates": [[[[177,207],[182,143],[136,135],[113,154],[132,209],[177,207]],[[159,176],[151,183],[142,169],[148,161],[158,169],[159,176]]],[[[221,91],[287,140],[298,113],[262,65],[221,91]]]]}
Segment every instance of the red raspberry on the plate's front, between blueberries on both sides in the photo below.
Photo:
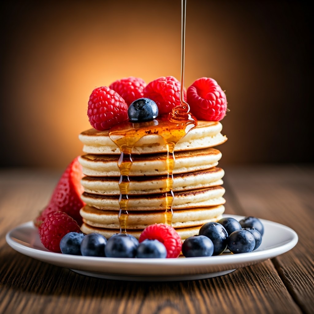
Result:
{"type": "Polygon", "coordinates": [[[147,226],[139,237],[139,242],[145,239],[158,240],[167,250],[167,258],[178,257],[181,252],[182,240],[176,230],[170,225],[154,224],[147,226]]]}

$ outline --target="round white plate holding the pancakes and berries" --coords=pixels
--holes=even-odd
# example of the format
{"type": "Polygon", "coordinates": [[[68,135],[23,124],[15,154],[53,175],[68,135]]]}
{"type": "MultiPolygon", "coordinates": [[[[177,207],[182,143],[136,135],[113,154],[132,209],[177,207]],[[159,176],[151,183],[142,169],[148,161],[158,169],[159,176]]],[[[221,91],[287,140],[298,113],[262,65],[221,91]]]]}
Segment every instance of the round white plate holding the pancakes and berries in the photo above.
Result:
{"type": "MultiPolygon", "coordinates": [[[[237,220],[243,216],[224,215],[237,220]]],[[[253,265],[292,249],[298,242],[294,230],[261,219],[264,235],[261,246],[253,252],[190,258],[111,258],[76,256],[48,251],[39,239],[32,221],[19,225],[6,235],[14,250],[74,272],[106,279],[132,281],[175,281],[216,277],[237,268],[253,265]]]]}

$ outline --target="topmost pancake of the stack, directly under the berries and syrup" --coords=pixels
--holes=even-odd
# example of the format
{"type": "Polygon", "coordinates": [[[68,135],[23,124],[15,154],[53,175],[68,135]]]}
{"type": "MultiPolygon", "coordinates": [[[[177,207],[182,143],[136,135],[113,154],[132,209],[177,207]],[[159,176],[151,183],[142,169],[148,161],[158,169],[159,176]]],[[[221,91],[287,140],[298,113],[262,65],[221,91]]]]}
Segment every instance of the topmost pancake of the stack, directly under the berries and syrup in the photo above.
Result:
{"type": "MultiPolygon", "coordinates": [[[[224,143],[227,138],[220,132],[222,124],[216,121],[198,121],[196,128],[190,130],[176,143],[176,151],[203,149],[224,143]]],[[[149,133],[149,130],[148,130],[149,133]]],[[[86,154],[120,154],[120,149],[109,138],[109,132],[89,129],[78,136],[84,144],[86,154]]],[[[147,134],[133,148],[133,154],[152,154],[167,152],[164,139],[158,134],[147,134]]]]}

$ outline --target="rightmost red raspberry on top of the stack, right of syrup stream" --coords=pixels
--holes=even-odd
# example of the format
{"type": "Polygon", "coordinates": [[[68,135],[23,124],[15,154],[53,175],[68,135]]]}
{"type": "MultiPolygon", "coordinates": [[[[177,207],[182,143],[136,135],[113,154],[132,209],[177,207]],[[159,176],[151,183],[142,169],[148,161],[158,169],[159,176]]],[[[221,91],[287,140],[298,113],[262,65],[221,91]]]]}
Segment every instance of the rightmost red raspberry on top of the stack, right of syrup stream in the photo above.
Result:
{"type": "Polygon", "coordinates": [[[187,103],[199,120],[220,121],[227,111],[226,95],[212,78],[198,78],[187,89],[187,103]]]}

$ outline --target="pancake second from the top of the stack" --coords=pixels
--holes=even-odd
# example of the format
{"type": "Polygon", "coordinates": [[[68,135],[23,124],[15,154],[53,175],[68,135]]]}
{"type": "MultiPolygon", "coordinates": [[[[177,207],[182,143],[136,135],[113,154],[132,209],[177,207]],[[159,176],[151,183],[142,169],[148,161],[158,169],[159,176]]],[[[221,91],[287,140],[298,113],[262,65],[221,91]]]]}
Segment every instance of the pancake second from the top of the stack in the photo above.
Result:
{"type": "MultiPolygon", "coordinates": [[[[205,148],[175,152],[175,166],[173,174],[187,173],[210,169],[218,165],[221,153],[218,149],[205,148]]],[[[120,177],[117,155],[80,156],[78,161],[86,176],[116,176],[120,177]]],[[[167,175],[167,154],[132,155],[133,163],[129,176],[160,176],[167,175]]]]}

